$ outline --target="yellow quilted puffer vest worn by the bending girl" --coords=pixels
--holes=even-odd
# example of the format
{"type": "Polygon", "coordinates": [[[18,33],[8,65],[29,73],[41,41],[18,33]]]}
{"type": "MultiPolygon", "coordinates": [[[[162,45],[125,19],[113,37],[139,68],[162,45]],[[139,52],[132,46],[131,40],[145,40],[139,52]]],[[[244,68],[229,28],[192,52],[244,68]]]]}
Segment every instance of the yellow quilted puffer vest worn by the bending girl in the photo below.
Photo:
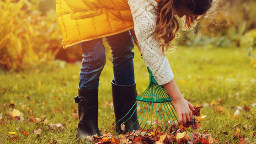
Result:
{"type": "Polygon", "coordinates": [[[127,0],[56,0],[63,48],[133,28],[127,0]]]}

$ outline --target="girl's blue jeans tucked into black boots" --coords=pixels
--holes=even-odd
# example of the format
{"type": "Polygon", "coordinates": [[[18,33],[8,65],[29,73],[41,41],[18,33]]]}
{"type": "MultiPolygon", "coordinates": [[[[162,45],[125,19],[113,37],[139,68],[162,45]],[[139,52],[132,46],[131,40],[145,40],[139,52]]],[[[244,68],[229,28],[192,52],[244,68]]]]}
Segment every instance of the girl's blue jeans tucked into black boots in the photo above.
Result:
{"type": "MultiPolygon", "coordinates": [[[[134,67],[132,51],[133,37],[130,31],[106,37],[112,50],[114,80],[117,85],[133,85],[134,67]]],[[[79,88],[97,90],[101,71],[106,63],[102,38],[80,43],[83,52],[82,67],[79,76],[79,88]]]]}

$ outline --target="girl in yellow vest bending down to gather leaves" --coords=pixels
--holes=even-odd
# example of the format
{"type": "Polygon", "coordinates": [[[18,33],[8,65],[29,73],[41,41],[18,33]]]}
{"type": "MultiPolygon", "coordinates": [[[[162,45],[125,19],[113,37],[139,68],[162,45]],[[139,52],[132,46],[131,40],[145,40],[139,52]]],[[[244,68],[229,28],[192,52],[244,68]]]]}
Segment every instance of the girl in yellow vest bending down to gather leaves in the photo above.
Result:
{"type": "MultiPolygon", "coordinates": [[[[112,49],[114,80],[112,95],[116,122],[130,108],[136,97],[133,70],[133,37],[128,30],[134,27],[145,64],[159,85],[163,85],[178,114],[181,124],[192,120],[192,104],[185,100],[173,77],[165,51],[176,37],[180,24],[190,29],[203,18],[213,0],[56,0],[57,16],[63,36],[63,47],[79,43],[83,52],[79,77],[79,123],[77,136],[101,135],[98,128],[99,76],[105,65],[105,49],[101,37],[106,37],[112,49]],[[158,3],[157,3],[158,2],[158,3]]],[[[128,116],[130,117],[130,116],[128,116]]],[[[126,122],[130,128],[137,114],[126,122]]],[[[123,121],[126,121],[125,119],[123,121]]],[[[133,125],[136,129],[139,123],[133,125]]],[[[118,126],[120,131],[120,127],[118,126]]],[[[124,130],[127,132],[127,129],[124,130]]]]}

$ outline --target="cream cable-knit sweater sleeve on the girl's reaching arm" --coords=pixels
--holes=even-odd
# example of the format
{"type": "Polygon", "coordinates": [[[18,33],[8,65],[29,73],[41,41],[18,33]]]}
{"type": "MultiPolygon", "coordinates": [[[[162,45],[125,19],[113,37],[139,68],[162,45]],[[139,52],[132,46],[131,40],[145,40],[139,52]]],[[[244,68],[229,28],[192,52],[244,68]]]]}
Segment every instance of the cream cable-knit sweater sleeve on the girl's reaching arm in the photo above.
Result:
{"type": "Polygon", "coordinates": [[[155,40],[157,3],[155,0],[128,0],[135,35],[139,41],[143,60],[152,71],[159,85],[170,82],[174,75],[168,59],[160,52],[160,44],[155,40]]]}

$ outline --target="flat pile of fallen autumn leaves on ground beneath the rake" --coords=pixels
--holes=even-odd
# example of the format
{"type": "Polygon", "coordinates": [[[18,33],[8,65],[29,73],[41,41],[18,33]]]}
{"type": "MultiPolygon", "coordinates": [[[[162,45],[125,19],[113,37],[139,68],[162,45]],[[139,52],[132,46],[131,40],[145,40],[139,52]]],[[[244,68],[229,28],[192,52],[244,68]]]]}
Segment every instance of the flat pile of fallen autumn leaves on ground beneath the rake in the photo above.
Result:
{"type": "Polygon", "coordinates": [[[158,132],[155,129],[150,129],[148,133],[145,131],[140,133],[138,130],[118,136],[105,132],[100,137],[92,136],[87,139],[96,144],[213,144],[211,134],[181,132],[180,129],[173,133],[158,132]]]}

